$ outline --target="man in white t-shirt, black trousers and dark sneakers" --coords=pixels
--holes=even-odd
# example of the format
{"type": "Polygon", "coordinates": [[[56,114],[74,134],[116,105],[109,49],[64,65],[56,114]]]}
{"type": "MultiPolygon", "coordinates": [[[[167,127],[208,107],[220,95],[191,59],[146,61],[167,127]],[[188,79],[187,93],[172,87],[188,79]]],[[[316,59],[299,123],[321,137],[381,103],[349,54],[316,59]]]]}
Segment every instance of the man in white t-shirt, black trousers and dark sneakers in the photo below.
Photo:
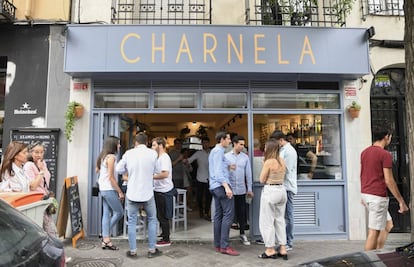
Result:
{"type": "Polygon", "coordinates": [[[170,219],[173,215],[174,184],[172,181],[171,158],[165,152],[166,141],[164,137],[152,139],[152,149],[158,153],[157,164],[154,173],[154,196],[157,206],[157,219],[161,226],[162,239],[157,242],[157,247],[171,245],[170,219]]]}

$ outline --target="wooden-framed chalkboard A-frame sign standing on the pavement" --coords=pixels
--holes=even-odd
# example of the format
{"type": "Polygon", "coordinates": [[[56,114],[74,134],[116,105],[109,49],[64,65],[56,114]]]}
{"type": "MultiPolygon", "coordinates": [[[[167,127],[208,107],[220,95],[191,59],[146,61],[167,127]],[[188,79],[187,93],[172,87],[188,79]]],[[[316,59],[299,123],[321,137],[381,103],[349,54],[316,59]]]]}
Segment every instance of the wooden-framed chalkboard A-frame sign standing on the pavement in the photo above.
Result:
{"type": "Polygon", "coordinates": [[[85,236],[77,176],[66,178],[62,188],[62,197],[56,223],[59,237],[65,237],[68,214],[70,215],[72,228],[72,246],[76,247],[76,241],[85,236]]]}

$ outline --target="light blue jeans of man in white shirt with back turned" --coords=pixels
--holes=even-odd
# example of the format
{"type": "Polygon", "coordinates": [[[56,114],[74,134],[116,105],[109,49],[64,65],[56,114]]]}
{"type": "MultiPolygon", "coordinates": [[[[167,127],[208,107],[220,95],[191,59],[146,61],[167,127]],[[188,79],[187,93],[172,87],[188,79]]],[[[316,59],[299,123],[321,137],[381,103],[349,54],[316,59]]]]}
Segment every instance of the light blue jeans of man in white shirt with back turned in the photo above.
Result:
{"type": "Polygon", "coordinates": [[[128,199],[128,243],[129,250],[132,252],[135,252],[137,250],[137,216],[138,210],[142,205],[144,206],[144,209],[147,212],[148,248],[150,250],[155,249],[155,242],[157,239],[157,210],[155,208],[154,197],[145,202],[135,202],[128,199]]]}

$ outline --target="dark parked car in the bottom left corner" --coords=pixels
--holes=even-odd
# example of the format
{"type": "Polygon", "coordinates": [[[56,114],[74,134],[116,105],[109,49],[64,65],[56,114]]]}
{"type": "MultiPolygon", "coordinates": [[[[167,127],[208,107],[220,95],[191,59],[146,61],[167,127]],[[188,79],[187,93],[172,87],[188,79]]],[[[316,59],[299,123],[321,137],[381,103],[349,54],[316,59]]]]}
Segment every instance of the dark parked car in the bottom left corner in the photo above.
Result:
{"type": "Polygon", "coordinates": [[[63,243],[0,199],[0,266],[65,266],[63,243]]]}

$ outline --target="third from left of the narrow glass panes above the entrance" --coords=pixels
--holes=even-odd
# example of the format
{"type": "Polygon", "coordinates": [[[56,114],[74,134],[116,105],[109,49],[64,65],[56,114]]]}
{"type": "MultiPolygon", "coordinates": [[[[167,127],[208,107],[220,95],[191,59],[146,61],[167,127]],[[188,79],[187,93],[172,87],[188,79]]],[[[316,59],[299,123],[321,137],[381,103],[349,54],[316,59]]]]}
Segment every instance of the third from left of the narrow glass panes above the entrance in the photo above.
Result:
{"type": "Polygon", "coordinates": [[[204,93],[203,108],[247,108],[246,93],[204,93]]]}

